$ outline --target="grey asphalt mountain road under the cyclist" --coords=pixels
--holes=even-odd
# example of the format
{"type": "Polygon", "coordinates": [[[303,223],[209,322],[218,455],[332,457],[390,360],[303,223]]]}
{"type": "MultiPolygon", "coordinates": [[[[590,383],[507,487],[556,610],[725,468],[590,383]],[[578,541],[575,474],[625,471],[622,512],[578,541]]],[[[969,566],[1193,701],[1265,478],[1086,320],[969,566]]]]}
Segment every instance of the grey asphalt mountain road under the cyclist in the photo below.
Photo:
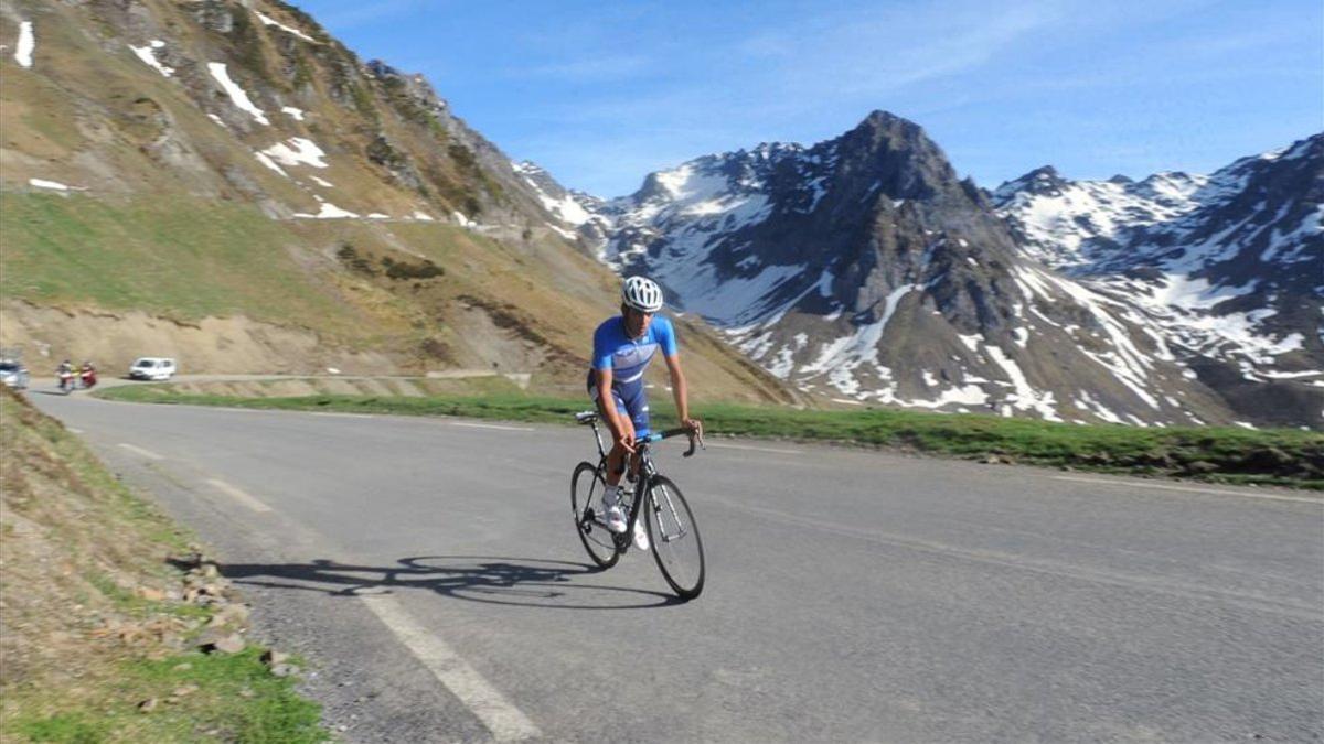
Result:
{"type": "Polygon", "coordinates": [[[30,396],[209,544],[351,741],[1312,741],[1324,504],[659,447],[708,553],[591,568],[588,430],[30,396]]]}

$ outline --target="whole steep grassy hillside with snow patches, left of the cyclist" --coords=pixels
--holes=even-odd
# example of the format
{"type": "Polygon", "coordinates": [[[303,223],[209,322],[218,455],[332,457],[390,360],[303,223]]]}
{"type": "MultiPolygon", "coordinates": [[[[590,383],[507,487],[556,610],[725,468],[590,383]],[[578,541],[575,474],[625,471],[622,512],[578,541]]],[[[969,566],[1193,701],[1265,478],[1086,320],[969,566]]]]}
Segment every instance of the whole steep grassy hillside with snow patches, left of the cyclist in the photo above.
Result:
{"type": "MultiPolygon", "coordinates": [[[[26,346],[30,364],[151,353],[193,372],[577,384],[616,278],[425,82],[365,65],[277,1],[0,3],[0,33],[24,20],[37,40],[30,68],[0,56],[0,344],[26,346]],[[150,40],[169,77],[130,50],[150,40]],[[320,155],[281,155],[294,150],[320,155]],[[297,217],[330,205],[363,217],[297,217]]],[[[706,389],[789,400],[710,330],[685,334],[706,389]]]]}

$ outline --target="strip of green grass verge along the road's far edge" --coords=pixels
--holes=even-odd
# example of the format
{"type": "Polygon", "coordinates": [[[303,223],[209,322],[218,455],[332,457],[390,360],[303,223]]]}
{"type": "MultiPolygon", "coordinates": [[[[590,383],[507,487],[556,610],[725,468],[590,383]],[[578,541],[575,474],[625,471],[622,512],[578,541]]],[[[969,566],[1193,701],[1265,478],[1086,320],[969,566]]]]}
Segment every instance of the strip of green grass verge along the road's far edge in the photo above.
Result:
{"type": "MultiPolygon", "coordinates": [[[[335,410],[405,416],[467,416],[567,424],[584,398],[489,396],[306,396],[240,398],[179,393],[168,385],[102,391],[110,400],[335,410]]],[[[653,404],[655,426],[674,425],[669,401],[653,404]]],[[[1324,434],[1295,429],[1080,426],[978,414],[902,410],[793,410],[711,404],[696,408],[707,432],[903,447],[963,458],[1004,459],[1103,473],[1176,475],[1222,483],[1324,490],[1324,434]]]]}

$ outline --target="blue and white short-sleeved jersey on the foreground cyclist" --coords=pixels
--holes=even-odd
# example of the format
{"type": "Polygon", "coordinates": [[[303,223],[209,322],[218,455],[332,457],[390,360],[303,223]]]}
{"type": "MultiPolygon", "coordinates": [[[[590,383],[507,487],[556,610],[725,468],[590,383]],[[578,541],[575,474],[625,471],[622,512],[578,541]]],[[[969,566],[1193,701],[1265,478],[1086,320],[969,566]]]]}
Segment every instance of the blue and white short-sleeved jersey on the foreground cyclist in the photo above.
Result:
{"type": "Polygon", "coordinates": [[[593,332],[593,367],[588,372],[588,395],[597,401],[597,371],[612,371],[612,398],[616,410],[634,424],[634,434],[649,434],[649,398],[643,392],[643,371],[653,356],[675,356],[675,330],[661,315],[653,318],[643,336],[632,339],[625,332],[625,318],[605,320],[593,332]]]}

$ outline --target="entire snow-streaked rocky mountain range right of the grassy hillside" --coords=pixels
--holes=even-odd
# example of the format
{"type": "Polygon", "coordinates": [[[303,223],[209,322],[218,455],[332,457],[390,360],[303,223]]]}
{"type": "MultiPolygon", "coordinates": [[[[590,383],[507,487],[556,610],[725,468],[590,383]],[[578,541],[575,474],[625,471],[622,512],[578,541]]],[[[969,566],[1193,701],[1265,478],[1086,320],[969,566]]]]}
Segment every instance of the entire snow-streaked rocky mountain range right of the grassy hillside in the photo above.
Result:
{"type": "MultiPolygon", "coordinates": [[[[1292,150],[1278,160],[1309,158],[1292,150]]],[[[1214,336],[1172,332],[1169,301],[1202,307],[1219,287],[1245,282],[1194,269],[1180,274],[1185,283],[1144,283],[1141,275],[1160,261],[1181,261],[1197,237],[1201,256],[1227,261],[1213,257],[1230,250],[1229,234],[1242,233],[1214,229],[1214,214],[1200,207],[1211,204],[1206,195],[1226,197],[1217,212],[1231,228],[1254,224],[1233,205],[1262,180],[1266,209],[1288,221],[1309,210],[1307,197],[1267,185],[1278,181],[1253,165],[1209,179],[1083,185],[1041,169],[997,192],[1000,214],[986,192],[957,179],[919,126],[875,111],[812,147],[710,155],[649,175],[626,197],[579,197],[589,217],[568,226],[618,271],[657,278],[675,304],[724,328],[768,371],[843,402],[1147,425],[1319,424],[1321,406],[1308,385],[1294,388],[1304,391],[1304,405],[1266,410],[1230,401],[1204,356],[1214,336]],[[1125,199],[1106,199],[1112,195],[1125,199]],[[1128,236],[1141,234],[1152,262],[1121,266],[1128,236]],[[1140,286],[1151,287],[1148,302],[1140,286]]],[[[1300,230],[1270,254],[1287,267],[1282,281],[1256,285],[1276,293],[1274,302],[1313,293],[1317,303],[1319,290],[1294,278],[1311,266],[1319,277],[1309,246],[1292,242],[1313,240],[1300,230]],[[1287,286],[1295,294],[1271,289],[1287,286]]],[[[1286,233],[1242,238],[1264,253],[1268,234],[1286,233]]],[[[1272,315],[1237,311],[1207,323],[1209,332],[1272,315]]],[[[1194,334],[1202,323],[1182,330],[1194,334]]],[[[1250,340],[1241,348],[1284,363],[1304,343],[1258,324],[1242,335],[1250,340]]],[[[1317,342],[1315,335],[1304,348],[1317,342]]],[[[1254,391],[1274,380],[1268,373],[1258,375],[1254,391]]]]}

